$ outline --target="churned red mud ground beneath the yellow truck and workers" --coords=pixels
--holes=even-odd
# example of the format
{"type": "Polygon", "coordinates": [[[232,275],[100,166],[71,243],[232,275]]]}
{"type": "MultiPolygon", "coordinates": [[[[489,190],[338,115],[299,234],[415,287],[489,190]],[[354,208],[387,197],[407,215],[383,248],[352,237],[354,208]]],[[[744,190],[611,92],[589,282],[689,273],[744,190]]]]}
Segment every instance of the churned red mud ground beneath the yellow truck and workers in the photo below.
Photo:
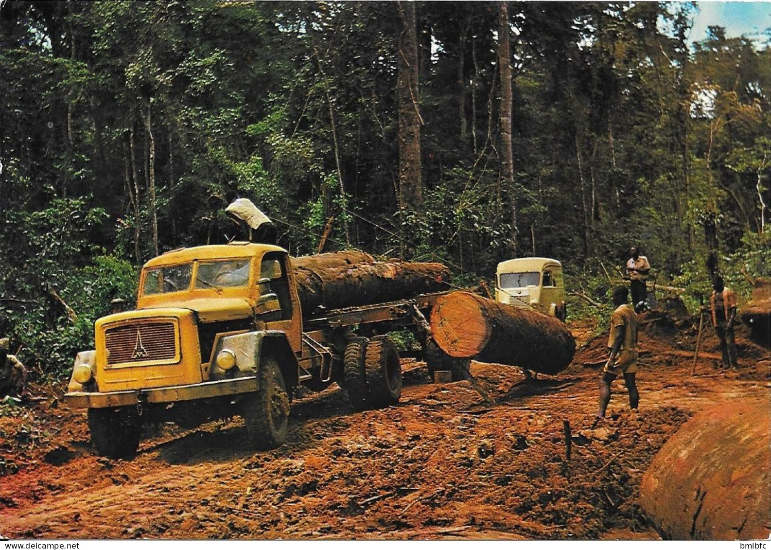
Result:
{"type": "Polygon", "coordinates": [[[692,319],[641,324],[640,412],[614,383],[591,429],[607,336],[557,376],[473,363],[467,382],[429,383],[404,360],[396,407],[356,413],[337,386],[296,400],[283,447],[243,450],[240,419],[146,433],[132,461],[93,454],[84,413],[42,399],[0,409],[0,534],[8,538],[655,539],[640,478],[694,413],[769,400],[768,352],[742,338],[739,369],[715,368],[711,332],[691,376],[692,319]],[[567,460],[564,422],[571,429],[567,460]]]}

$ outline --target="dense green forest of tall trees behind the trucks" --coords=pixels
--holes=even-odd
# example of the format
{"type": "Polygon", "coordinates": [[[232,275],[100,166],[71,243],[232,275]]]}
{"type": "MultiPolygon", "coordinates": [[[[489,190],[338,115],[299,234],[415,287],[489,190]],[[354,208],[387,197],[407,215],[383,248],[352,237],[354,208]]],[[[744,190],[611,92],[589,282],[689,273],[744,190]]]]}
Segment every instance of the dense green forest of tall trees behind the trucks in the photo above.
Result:
{"type": "MultiPolygon", "coordinates": [[[[630,245],[691,305],[769,275],[771,49],[686,2],[5,2],[0,336],[50,373],[160,252],[564,262],[630,245]],[[708,262],[708,259],[710,261],[708,262]]],[[[602,301],[602,300],[601,300],[602,301]]]]}

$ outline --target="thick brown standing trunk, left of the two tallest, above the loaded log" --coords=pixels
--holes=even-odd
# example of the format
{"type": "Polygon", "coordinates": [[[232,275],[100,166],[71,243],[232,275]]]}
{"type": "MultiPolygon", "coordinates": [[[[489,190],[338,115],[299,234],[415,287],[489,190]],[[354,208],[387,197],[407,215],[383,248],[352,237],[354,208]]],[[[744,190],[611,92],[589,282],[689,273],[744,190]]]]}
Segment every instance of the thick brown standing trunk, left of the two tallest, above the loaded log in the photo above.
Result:
{"type": "Polygon", "coordinates": [[[398,40],[396,97],[399,105],[399,208],[418,210],[423,202],[418,104],[418,44],[414,2],[397,2],[402,30],[398,40]]]}

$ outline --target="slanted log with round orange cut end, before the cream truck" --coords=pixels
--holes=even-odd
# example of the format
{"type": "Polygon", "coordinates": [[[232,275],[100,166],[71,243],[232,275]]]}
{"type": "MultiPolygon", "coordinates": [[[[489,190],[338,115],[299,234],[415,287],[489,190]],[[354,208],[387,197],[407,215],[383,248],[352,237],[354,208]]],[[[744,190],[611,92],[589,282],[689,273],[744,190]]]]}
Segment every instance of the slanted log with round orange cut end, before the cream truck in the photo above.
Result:
{"type": "Polygon", "coordinates": [[[436,344],[452,357],[556,374],[575,353],[573,335],[560,320],[471,292],[437,299],[430,325],[436,344]]]}

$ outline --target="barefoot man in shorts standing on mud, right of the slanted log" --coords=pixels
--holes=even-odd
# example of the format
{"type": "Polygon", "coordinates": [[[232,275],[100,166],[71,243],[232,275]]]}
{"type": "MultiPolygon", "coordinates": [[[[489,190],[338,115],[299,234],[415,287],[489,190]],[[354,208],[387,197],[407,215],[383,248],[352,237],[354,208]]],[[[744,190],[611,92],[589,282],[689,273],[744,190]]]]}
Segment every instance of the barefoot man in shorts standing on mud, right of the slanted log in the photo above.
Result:
{"type": "Polygon", "coordinates": [[[605,417],[605,410],[611,402],[611,383],[619,373],[624,375],[624,385],[629,392],[629,407],[637,409],[640,395],[635,383],[637,373],[637,315],[627,303],[629,291],[625,286],[613,289],[613,305],[616,306],[611,315],[611,332],[608,335],[608,348],[611,355],[602,369],[600,380],[600,410],[597,420],[605,417]]]}

